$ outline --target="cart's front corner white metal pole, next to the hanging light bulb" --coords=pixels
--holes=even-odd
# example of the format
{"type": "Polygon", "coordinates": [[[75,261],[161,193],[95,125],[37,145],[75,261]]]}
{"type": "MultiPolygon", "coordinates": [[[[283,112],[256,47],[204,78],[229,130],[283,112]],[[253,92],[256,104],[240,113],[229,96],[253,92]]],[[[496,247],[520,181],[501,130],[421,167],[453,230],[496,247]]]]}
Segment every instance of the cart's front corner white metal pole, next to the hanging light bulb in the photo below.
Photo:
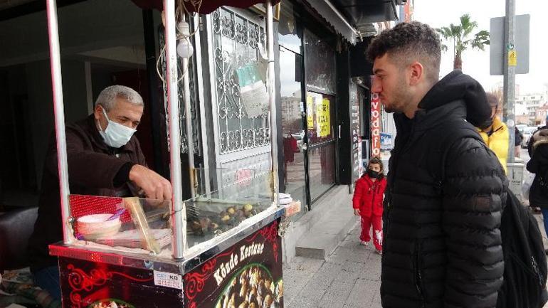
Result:
{"type": "Polygon", "coordinates": [[[186,211],[181,186],[181,131],[179,124],[179,95],[177,89],[177,53],[175,0],[164,0],[166,18],[166,83],[167,107],[169,110],[169,156],[171,157],[172,180],[172,256],[181,259],[186,247],[186,211]]]}

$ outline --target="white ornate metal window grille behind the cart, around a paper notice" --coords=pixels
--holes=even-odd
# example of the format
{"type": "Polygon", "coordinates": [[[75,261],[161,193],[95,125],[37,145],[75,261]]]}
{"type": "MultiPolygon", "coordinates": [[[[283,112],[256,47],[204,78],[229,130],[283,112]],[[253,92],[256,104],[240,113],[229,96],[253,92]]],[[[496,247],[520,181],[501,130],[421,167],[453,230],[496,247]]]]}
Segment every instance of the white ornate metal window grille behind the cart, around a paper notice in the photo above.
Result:
{"type": "Polygon", "coordinates": [[[236,78],[238,68],[258,61],[258,48],[265,46],[264,28],[223,8],[214,12],[212,21],[220,153],[268,145],[269,112],[248,117],[236,78]]]}

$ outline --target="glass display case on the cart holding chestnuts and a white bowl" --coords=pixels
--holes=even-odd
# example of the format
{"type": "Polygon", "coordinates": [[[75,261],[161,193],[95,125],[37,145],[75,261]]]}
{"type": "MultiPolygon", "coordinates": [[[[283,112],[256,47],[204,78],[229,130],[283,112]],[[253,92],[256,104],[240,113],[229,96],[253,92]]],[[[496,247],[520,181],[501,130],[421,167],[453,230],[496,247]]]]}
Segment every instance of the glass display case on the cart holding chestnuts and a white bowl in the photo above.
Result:
{"type": "MultiPolygon", "coordinates": [[[[214,238],[226,238],[278,209],[269,170],[215,173],[221,188],[184,201],[186,243],[181,245],[188,253],[195,251],[194,246],[213,246],[216,241],[208,242],[214,238]]],[[[68,223],[76,245],[171,258],[171,201],[83,195],[70,195],[69,200],[68,223]]]]}

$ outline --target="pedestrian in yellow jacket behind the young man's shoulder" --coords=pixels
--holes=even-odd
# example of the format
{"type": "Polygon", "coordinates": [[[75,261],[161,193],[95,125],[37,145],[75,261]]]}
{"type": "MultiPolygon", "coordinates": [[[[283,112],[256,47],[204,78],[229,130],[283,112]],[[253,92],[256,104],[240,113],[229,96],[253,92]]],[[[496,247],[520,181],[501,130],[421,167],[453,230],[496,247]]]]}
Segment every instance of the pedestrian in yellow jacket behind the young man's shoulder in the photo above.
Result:
{"type": "Polygon", "coordinates": [[[508,159],[508,148],[510,147],[510,134],[508,134],[508,127],[504,122],[500,120],[500,101],[498,97],[491,93],[485,93],[487,96],[487,102],[491,107],[491,117],[487,121],[487,124],[480,125],[478,132],[485,141],[485,144],[495,152],[502,168],[506,170],[506,163],[508,159]]]}

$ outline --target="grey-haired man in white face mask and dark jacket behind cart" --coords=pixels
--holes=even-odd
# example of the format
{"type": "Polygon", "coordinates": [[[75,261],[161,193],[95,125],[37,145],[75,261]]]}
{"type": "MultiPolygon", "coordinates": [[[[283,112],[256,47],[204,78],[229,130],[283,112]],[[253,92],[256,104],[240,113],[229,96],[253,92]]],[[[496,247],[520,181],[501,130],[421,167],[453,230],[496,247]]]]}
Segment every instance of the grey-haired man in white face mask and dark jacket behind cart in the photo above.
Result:
{"type": "MultiPolygon", "coordinates": [[[[66,127],[70,193],[95,196],[137,196],[171,199],[167,179],[147,168],[133,135],[143,114],[141,95],[130,87],[112,85],[99,94],[95,111],[66,127]]],[[[38,218],[28,243],[36,285],[60,299],[57,257],[48,245],[63,240],[57,148],[52,138],[42,176],[38,218]]]]}

